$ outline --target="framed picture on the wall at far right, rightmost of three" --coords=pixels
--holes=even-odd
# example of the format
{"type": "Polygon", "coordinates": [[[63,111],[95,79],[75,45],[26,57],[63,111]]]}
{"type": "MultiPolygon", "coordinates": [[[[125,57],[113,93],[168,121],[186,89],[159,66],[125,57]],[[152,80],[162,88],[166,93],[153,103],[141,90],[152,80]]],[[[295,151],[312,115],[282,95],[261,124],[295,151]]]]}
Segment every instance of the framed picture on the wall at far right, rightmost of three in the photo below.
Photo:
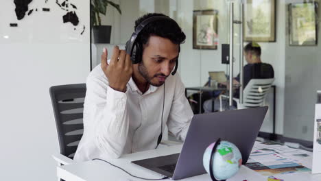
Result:
{"type": "Polygon", "coordinates": [[[317,45],[317,7],[312,2],[289,4],[289,45],[317,45]]]}

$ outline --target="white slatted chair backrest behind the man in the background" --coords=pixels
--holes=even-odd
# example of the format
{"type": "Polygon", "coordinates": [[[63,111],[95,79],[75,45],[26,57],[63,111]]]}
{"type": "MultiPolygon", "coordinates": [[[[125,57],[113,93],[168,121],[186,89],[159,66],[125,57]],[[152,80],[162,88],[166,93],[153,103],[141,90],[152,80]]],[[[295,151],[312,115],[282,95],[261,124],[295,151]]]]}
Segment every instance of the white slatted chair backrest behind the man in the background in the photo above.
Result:
{"type": "Polygon", "coordinates": [[[274,78],[251,79],[243,90],[243,106],[247,108],[263,106],[265,96],[273,82],[274,78]]]}

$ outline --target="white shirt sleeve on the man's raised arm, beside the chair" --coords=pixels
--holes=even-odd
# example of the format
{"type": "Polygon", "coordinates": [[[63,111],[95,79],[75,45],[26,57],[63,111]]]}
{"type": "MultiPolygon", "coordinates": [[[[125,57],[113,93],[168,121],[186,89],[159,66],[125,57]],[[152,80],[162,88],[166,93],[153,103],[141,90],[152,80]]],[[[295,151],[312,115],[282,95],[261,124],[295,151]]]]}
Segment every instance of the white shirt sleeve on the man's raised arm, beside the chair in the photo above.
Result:
{"type": "Polygon", "coordinates": [[[89,76],[84,102],[84,134],[93,139],[91,144],[100,154],[119,158],[128,136],[126,93],[108,86],[108,81],[89,76]]]}

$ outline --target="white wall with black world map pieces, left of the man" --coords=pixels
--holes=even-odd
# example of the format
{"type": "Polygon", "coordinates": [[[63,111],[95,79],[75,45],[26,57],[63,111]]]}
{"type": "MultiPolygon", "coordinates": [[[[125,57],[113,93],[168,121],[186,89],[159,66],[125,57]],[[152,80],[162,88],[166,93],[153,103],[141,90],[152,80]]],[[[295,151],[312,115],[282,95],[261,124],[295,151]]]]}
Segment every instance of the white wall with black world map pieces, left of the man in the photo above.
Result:
{"type": "Polygon", "coordinates": [[[21,21],[16,20],[13,1],[1,3],[1,180],[57,180],[51,154],[59,152],[58,136],[49,87],[82,83],[90,69],[89,3],[70,2],[78,8],[76,30],[62,23],[66,12],[56,1],[33,1],[29,7],[38,12],[21,21]],[[81,36],[82,25],[86,30],[81,36]]]}

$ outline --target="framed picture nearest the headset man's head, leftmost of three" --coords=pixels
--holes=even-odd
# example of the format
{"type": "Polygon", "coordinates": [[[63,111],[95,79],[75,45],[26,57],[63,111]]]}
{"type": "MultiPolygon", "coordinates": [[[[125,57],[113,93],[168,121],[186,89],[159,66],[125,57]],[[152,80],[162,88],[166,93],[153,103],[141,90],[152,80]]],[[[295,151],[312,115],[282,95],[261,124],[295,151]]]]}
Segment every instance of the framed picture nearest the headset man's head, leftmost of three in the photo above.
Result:
{"type": "Polygon", "coordinates": [[[193,49],[217,49],[217,10],[193,11],[193,49]]]}

